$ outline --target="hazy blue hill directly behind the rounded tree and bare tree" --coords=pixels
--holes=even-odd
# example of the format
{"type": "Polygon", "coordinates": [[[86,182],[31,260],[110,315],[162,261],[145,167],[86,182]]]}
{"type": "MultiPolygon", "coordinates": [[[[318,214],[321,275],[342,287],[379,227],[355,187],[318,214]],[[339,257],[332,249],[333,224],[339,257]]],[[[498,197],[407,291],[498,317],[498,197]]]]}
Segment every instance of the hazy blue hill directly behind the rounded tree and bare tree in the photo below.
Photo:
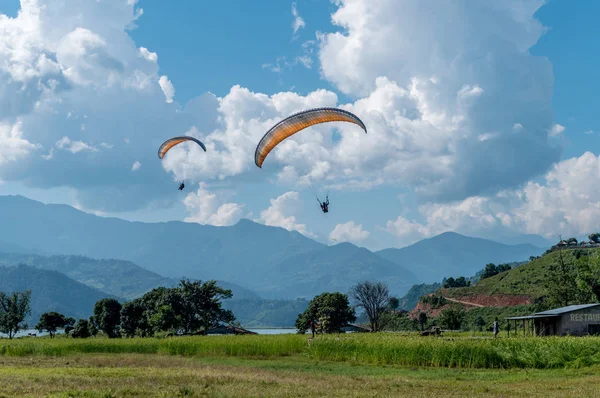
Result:
{"type": "Polygon", "coordinates": [[[351,285],[363,280],[386,282],[393,294],[401,295],[418,283],[402,266],[351,243],[287,258],[267,272],[278,275],[278,279],[258,290],[264,297],[312,299],[321,292],[347,293],[351,285]]]}

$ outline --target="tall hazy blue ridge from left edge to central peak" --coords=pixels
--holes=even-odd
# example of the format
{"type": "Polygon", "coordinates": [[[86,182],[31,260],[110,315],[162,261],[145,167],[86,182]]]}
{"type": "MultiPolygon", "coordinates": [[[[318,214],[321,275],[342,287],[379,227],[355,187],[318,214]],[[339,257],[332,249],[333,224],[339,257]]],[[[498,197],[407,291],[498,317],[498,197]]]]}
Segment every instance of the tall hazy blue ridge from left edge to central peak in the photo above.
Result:
{"type": "Polygon", "coordinates": [[[231,227],[196,223],[128,222],[0,197],[0,241],[55,254],[129,260],[169,278],[225,280],[251,290],[278,275],[264,270],[325,247],[295,231],[241,220],[231,227]]]}

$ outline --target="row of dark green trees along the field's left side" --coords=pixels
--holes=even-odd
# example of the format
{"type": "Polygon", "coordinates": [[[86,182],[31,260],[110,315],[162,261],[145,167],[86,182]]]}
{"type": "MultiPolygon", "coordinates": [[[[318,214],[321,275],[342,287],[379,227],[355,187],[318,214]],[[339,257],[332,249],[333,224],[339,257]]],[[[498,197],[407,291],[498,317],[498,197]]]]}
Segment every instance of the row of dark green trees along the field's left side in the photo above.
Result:
{"type": "MultiPolygon", "coordinates": [[[[99,300],[89,319],[75,321],[57,312],[46,312],[35,329],[48,332],[51,338],[59,329],[74,338],[95,336],[100,331],[109,338],[206,334],[210,328],[235,322],[233,312],[221,306],[221,300],[232,296],[231,290],[221,288],[214,280],[182,279],[176,287],[158,287],[125,304],[112,298],[99,300]]],[[[12,339],[27,329],[24,321],[30,313],[31,291],[0,292],[1,333],[12,339]]]]}

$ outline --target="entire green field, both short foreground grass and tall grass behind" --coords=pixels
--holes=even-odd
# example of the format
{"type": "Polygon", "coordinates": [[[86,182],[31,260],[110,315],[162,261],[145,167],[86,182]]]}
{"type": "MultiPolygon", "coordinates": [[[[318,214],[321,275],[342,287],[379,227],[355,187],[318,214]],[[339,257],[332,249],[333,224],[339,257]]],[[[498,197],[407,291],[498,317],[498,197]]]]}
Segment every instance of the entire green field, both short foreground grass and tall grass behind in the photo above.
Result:
{"type": "Polygon", "coordinates": [[[600,338],[0,340],[0,397],[596,396],[600,338]]]}

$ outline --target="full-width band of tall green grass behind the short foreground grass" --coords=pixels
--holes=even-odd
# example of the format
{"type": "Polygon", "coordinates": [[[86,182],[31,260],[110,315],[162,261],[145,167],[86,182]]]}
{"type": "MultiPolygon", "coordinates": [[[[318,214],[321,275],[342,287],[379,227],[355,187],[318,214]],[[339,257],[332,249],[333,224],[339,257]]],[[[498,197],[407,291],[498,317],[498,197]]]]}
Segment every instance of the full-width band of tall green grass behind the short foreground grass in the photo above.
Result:
{"type": "Polygon", "coordinates": [[[600,365],[598,337],[419,337],[397,333],[318,336],[198,336],[165,339],[25,338],[0,340],[0,356],[142,353],[276,358],[305,354],[325,361],[414,367],[579,368],[600,365]]]}

